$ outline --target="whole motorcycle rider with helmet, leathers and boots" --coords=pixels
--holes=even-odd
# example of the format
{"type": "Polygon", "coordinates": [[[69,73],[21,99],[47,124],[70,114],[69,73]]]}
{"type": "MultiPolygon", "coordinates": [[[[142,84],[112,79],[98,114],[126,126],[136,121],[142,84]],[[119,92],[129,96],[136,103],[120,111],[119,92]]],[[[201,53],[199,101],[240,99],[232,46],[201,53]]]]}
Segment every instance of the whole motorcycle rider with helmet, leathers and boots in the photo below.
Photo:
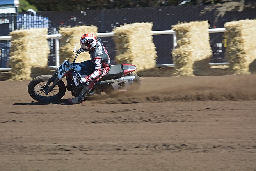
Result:
{"type": "Polygon", "coordinates": [[[110,71],[110,58],[108,52],[101,42],[100,38],[96,38],[94,34],[86,33],[80,39],[81,48],[78,53],[89,52],[91,60],[81,62],[92,69],[92,73],[86,77],[82,77],[80,82],[85,84],[84,88],[77,97],[69,98],[72,104],[84,102],[85,96],[91,91],[95,83],[110,71]]]}

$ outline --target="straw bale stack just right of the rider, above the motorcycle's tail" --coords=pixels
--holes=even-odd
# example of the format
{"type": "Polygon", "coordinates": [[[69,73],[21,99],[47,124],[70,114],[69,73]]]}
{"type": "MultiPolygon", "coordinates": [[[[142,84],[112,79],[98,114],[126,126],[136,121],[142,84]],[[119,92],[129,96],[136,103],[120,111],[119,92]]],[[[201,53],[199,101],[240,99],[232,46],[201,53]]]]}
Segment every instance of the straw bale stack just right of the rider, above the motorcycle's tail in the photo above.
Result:
{"type": "Polygon", "coordinates": [[[152,27],[153,23],[133,23],[115,28],[116,62],[136,65],[137,71],[155,68],[156,50],[152,27]]]}

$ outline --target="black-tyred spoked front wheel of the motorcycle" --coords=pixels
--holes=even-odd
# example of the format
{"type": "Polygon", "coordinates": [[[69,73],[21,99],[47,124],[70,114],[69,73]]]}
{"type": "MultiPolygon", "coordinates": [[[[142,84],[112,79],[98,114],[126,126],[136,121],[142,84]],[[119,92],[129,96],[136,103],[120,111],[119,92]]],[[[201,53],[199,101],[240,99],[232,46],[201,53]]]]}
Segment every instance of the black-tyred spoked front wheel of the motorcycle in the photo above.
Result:
{"type": "Polygon", "coordinates": [[[28,93],[39,102],[54,102],[60,100],[66,93],[66,86],[62,80],[48,93],[45,92],[53,84],[56,77],[51,75],[41,75],[30,81],[28,84],[28,93]],[[47,84],[48,83],[48,84],[47,84]]]}

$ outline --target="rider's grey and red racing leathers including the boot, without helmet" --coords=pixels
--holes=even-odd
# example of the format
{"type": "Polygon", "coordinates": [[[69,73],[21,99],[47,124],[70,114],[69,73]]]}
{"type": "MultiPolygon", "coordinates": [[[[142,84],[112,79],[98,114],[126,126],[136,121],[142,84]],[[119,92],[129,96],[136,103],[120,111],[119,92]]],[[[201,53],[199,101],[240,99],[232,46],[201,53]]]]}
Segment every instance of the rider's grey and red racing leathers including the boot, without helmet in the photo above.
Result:
{"type": "Polygon", "coordinates": [[[81,64],[89,66],[93,72],[85,77],[87,86],[82,89],[79,96],[69,99],[71,103],[84,102],[84,97],[91,91],[95,83],[110,71],[110,58],[100,38],[97,38],[97,44],[94,50],[89,51],[89,54],[91,60],[81,62],[81,64]]]}

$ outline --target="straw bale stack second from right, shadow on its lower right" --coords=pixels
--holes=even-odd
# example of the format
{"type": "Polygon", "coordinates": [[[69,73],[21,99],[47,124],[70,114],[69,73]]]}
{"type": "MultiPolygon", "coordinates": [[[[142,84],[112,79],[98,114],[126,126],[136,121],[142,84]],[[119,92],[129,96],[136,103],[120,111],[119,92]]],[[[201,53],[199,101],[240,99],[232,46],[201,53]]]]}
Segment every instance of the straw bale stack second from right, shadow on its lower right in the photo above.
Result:
{"type": "Polygon", "coordinates": [[[208,21],[192,21],[172,26],[177,38],[177,47],[172,51],[175,75],[208,75],[212,56],[208,28],[208,21]]]}

